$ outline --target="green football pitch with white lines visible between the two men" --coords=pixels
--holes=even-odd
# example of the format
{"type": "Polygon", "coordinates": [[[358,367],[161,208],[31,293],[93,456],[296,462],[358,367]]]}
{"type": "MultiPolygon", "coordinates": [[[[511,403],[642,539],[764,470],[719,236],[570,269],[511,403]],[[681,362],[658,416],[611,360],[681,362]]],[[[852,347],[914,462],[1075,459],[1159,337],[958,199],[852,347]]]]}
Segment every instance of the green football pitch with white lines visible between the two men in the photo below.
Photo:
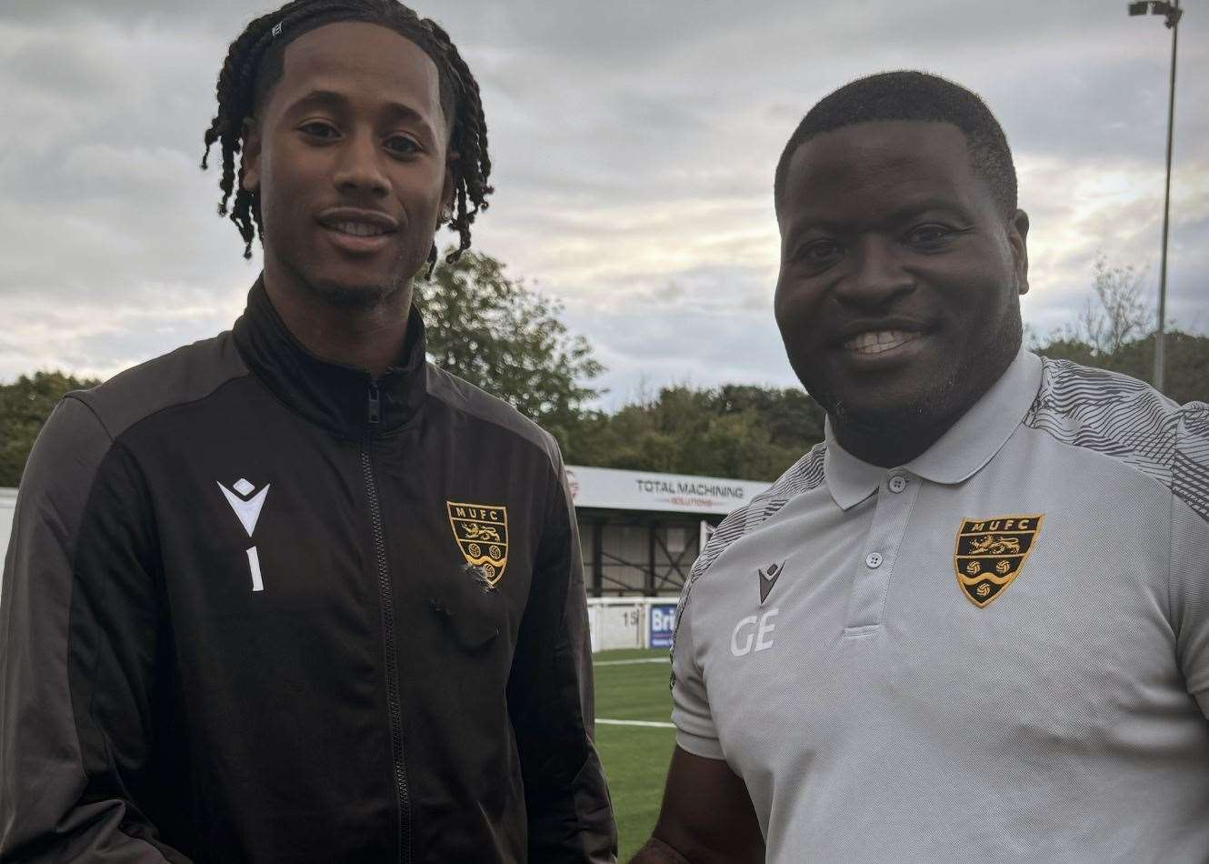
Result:
{"type": "Polygon", "coordinates": [[[667,650],[592,655],[596,678],[596,748],[617,813],[620,860],[650,836],[672,758],[672,697],[667,650]],[[649,725],[647,725],[649,724],[649,725]]]}

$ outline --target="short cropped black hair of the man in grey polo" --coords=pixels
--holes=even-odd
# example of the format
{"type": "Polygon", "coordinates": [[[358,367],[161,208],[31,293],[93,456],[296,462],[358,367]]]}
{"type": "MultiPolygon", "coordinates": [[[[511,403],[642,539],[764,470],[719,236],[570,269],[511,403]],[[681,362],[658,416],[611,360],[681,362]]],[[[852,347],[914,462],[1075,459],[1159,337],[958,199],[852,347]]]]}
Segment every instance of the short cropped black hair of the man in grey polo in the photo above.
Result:
{"type": "Polygon", "coordinates": [[[901,70],[851,81],[823,97],[798,123],[776,163],[773,200],[785,194],[789,161],[802,144],[823,132],[873,120],[924,120],[953,123],[966,137],[974,174],[990,186],[1006,220],[1016,215],[1016,166],[1007,137],[977,93],[939,75],[901,70]]]}

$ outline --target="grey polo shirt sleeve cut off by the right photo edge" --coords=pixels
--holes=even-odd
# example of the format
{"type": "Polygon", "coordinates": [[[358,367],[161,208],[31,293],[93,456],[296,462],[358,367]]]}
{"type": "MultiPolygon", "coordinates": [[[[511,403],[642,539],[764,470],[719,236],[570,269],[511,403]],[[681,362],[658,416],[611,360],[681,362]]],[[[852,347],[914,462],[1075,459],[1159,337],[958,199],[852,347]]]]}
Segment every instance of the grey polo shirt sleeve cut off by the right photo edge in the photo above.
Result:
{"type": "Polygon", "coordinates": [[[1172,474],[1175,652],[1188,692],[1209,719],[1209,405],[1184,407],[1172,474]]]}

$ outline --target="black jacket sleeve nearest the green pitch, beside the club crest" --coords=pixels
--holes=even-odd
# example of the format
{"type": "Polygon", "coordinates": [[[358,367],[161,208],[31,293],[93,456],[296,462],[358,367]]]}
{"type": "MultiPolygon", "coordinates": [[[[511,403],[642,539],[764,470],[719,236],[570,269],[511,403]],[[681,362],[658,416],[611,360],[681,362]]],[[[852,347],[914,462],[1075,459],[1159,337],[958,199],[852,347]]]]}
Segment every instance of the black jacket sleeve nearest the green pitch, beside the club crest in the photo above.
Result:
{"type": "Polygon", "coordinates": [[[551,506],[521,618],[508,707],[533,862],[617,860],[617,825],[592,743],[591,645],[579,532],[555,451],[551,506]]]}

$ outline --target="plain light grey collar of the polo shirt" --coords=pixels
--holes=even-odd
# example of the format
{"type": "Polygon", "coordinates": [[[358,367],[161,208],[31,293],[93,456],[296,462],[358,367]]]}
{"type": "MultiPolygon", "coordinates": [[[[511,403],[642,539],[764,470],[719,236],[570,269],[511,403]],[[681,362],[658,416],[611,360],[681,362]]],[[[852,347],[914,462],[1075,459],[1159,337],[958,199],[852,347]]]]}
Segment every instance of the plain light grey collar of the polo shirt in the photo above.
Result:
{"type": "MultiPolygon", "coordinates": [[[[972,477],[1016,432],[1040,386],[1041,358],[1022,347],[990,390],[932,447],[902,468],[932,483],[961,483],[972,477]]],[[[835,503],[848,509],[869,497],[892,468],[869,465],[841,448],[835,440],[829,416],[823,434],[827,440],[823,455],[827,489],[835,503]]]]}

